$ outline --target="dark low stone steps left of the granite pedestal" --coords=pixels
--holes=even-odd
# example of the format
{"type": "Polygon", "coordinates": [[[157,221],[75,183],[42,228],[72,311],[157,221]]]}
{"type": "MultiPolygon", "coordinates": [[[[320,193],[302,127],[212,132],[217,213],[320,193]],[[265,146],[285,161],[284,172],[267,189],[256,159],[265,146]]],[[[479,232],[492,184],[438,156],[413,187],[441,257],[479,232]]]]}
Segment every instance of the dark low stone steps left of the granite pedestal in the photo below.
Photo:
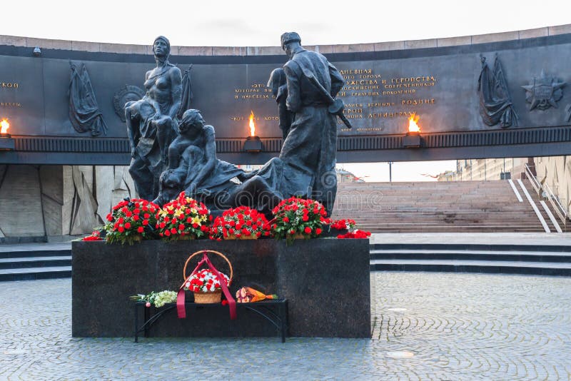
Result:
{"type": "Polygon", "coordinates": [[[0,281],[71,277],[71,243],[0,245],[0,281]]]}

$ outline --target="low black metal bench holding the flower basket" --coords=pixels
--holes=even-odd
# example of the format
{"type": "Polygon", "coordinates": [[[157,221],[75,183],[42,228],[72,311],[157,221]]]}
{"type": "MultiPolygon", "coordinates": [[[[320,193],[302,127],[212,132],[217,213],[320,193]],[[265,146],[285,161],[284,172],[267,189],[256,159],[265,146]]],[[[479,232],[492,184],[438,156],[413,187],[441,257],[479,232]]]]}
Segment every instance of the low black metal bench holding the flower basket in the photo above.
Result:
{"type": "MultiPolygon", "coordinates": [[[[144,332],[144,337],[148,337],[148,330],[151,328],[157,320],[159,320],[165,313],[170,310],[176,311],[176,303],[167,303],[161,308],[155,308],[156,313],[151,316],[151,308],[146,308],[145,302],[135,303],[135,342],[138,342],[138,335],[144,332]],[[144,310],[144,321],[143,325],[138,325],[140,309],[144,310]]],[[[199,304],[187,301],[185,307],[196,309],[196,308],[208,308],[211,310],[219,310],[221,313],[228,313],[228,306],[222,305],[221,303],[212,304],[199,304]]],[[[281,342],[285,342],[285,335],[288,331],[288,300],[287,299],[267,299],[256,303],[236,303],[237,313],[240,314],[240,310],[250,310],[253,313],[261,315],[264,319],[276,327],[279,335],[281,335],[281,342]]],[[[192,315],[191,315],[192,316],[192,315]]],[[[187,317],[192,318],[192,317],[187,317]]]]}

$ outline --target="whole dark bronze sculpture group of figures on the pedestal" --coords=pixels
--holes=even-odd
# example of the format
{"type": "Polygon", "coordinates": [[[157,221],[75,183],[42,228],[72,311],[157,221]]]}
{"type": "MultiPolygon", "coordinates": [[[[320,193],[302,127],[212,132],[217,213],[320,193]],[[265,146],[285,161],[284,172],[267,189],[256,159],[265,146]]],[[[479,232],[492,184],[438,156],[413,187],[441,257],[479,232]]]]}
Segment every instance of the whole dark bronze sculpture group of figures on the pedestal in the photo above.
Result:
{"type": "Polygon", "coordinates": [[[336,116],[343,119],[343,102],[335,96],[344,81],[324,56],[300,43],[295,32],[281,36],[289,61],[268,82],[278,102],[281,153],[244,173],[216,158],[214,128],[200,111],[188,109],[178,121],[181,71],[168,62],[168,39],[157,37],[157,66],[146,73],[146,95],[125,105],[129,173],[140,197],[163,205],[185,191],[214,210],[248,205],[270,213],[295,195],[320,201],[330,213],[337,192],[336,116]]]}

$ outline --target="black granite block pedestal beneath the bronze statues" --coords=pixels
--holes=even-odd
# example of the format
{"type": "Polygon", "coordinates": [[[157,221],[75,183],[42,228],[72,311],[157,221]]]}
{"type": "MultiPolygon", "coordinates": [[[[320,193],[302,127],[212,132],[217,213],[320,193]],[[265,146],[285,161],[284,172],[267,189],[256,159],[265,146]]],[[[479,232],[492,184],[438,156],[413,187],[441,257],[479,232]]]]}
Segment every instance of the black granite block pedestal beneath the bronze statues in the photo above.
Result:
{"type": "MultiPolygon", "coordinates": [[[[369,240],[148,240],[132,246],[76,241],[73,248],[72,334],[74,337],[133,336],[129,295],[178,290],[183,266],[198,250],[216,250],[234,268],[233,295],[249,285],[289,303],[288,334],[294,337],[370,337],[369,240]]],[[[209,255],[218,270],[228,265],[209,255]]],[[[198,256],[189,265],[190,273],[198,256]]],[[[256,314],[212,316],[176,313],[153,326],[151,336],[273,336],[256,314]]]]}

